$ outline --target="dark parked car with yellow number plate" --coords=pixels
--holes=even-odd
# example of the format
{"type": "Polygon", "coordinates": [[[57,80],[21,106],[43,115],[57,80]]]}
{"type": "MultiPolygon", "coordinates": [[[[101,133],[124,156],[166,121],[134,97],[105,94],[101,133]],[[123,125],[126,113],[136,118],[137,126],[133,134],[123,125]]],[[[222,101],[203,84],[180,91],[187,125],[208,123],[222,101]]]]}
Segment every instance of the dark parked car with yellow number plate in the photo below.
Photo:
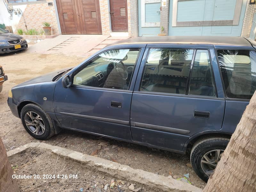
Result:
{"type": "Polygon", "coordinates": [[[27,48],[28,44],[25,38],[0,28],[0,54],[27,48]]]}

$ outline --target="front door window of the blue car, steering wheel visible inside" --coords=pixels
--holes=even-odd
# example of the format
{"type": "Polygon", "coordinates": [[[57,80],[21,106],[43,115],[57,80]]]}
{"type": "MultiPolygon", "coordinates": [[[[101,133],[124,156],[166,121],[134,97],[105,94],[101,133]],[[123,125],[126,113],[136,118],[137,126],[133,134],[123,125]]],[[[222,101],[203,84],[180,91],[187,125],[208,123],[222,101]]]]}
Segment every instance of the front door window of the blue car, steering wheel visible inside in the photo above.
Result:
{"type": "Polygon", "coordinates": [[[74,76],[74,85],[128,90],[140,49],[115,49],[93,58],[74,76]]]}

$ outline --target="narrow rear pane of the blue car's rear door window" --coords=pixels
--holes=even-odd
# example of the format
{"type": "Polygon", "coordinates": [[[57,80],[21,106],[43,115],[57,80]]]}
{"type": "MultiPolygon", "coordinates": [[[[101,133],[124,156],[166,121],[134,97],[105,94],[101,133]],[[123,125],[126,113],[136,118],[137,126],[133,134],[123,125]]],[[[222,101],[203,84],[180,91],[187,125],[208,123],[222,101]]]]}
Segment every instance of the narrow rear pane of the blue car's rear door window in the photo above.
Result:
{"type": "Polygon", "coordinates": [[[207,50],[196,51],[188,94],[215,96],[212,67],[207,50]]]}

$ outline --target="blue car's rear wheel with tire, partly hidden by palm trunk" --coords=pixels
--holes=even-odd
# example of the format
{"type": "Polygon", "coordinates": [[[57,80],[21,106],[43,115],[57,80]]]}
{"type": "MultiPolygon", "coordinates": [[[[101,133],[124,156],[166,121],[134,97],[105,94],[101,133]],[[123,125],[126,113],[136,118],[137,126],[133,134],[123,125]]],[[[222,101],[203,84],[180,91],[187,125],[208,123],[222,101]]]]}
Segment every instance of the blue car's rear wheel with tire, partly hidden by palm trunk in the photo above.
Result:
{"type": "Polygon", "coordinates": [[[194,144],[190,153],[190,162],[196,174],[205,182],[219,162],[229,140],[226,137],[210,137],[194,144]]]}

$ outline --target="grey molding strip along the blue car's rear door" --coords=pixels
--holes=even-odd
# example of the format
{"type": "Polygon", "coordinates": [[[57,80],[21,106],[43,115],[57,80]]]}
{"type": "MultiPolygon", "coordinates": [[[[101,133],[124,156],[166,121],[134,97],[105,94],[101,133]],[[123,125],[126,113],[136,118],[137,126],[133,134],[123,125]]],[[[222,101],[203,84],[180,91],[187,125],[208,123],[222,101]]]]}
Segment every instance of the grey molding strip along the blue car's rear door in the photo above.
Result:
{"type": "Polygon", "coordinates": [[[175,129],[172,127],[163,127],[163,126],[158,126],[158,125],[136,123],[136,122],[131,122],[131,126],[140,127],[140,128],[144,128],[144,129],[151,129],[151,130],[156,130],[156,131],[183,134],[183,135],[187,135],[188,133],[190,133],[190,131],[184,130],[184,129],[175,129]]]}

